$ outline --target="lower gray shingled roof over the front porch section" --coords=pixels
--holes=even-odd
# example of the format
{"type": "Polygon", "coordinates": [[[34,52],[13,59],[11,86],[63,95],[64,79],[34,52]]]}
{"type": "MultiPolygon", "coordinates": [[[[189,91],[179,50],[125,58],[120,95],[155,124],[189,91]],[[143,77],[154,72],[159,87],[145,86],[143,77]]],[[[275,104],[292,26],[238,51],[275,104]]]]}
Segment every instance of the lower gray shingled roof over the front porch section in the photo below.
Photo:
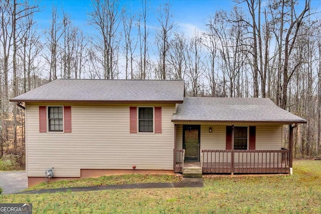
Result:
{"type": "Polygon", "coordinates": [[[173,122],[306,123],[269,98],[185,97],[173,122]]]}

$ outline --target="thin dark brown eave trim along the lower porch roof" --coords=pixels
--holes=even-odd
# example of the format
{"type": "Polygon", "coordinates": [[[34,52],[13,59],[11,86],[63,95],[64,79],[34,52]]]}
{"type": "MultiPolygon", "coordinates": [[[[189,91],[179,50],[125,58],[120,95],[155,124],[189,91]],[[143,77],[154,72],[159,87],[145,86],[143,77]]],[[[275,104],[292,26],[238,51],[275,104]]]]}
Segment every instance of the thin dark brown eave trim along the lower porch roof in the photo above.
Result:
{"type": "Polygon", "coordinates": [[[253,121],[253,120],[239,120],[239,121],[231,121],[231,120],[172,120],[172,122],[180,122],[180,123],[273,123],[273,124],[293,124],[293,123],[307,123],[302,120],[291,120],[291,121],[253,121]]]}

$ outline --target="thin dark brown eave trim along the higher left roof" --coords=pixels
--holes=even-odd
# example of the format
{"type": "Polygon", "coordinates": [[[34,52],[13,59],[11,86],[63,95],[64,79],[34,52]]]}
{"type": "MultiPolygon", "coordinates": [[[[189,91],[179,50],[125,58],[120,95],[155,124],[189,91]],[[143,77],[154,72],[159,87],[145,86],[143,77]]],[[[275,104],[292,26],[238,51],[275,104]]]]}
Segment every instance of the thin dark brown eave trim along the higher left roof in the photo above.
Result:
{"type": "Polygon", "coordinates": [[[24,103],[164,103],[176,104],[183,103],[183,100],[19,100],[10,99],[10,102],[24,102],[24,103]]]}

